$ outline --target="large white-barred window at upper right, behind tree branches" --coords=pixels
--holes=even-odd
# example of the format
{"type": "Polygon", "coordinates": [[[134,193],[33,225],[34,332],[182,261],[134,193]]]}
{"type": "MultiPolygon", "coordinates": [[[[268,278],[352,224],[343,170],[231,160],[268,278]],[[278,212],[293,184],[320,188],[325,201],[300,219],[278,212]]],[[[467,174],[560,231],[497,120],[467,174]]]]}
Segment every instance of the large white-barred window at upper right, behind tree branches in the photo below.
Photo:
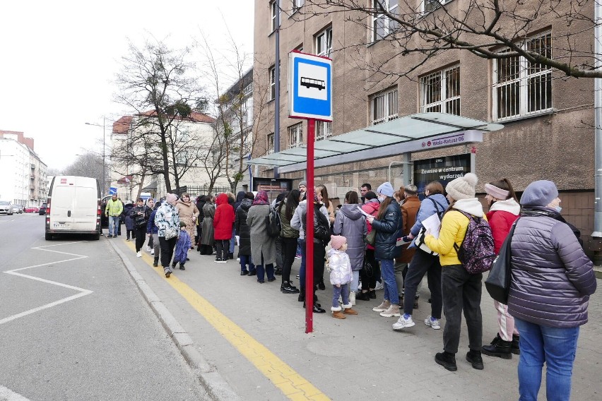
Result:
{"type": "MultiPolygon", "coordinates": [[[[552,58],[550,33],[531,37],[524,49],[552,58]]],[[[503,52],[507,52],[504,50],[503,52]]],[[[493,119],[528,116],[552,109],[552,68],[522,56],[493,61],[493,119]]]]}

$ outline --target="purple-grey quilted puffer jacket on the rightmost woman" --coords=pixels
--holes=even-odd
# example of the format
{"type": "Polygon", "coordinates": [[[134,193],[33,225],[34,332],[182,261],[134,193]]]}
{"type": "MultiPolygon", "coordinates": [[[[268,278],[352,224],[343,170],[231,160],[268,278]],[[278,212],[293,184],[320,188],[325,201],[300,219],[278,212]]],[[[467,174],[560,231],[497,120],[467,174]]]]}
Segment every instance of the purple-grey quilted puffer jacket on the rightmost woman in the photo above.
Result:
{"type": "Polygon", "coordinates": [[[510,247],[512,316],[557,328],[587,323],[596,277],[593,263],[568,225],[548,215],[523,216],[510,247]]]}

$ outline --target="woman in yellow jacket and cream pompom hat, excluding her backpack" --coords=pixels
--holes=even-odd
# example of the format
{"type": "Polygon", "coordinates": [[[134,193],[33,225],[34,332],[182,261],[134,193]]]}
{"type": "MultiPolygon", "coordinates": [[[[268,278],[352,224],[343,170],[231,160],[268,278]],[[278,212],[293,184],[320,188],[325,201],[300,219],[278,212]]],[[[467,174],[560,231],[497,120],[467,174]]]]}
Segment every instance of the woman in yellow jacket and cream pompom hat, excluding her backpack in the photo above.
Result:
{"type": "Polygon", "coordinates": [[[483,205],[475,198],[477,176],[467,173],[454,179],[445,187],[449,208],[443,215],[439,238],[430,234],[425,236],[425,244],[439,253],[442,267],[441,286],[443,295],[443,313],[445,328],[443,330],[443,351],[435,355],[435,362],[448,371],[456,371],[456,353],[460,342],[462,311],[468,327],[468,354],[466,360],[474,369],[483,369],[483,358],[480,355],[483,337],[483,319],[480,314],[480,295],[482,274],[471,274],[464,269],[458,259],[454,244],[460,246],[468,228],[468,217],[460,213],[468,213],[486,219],[483,205]]]}

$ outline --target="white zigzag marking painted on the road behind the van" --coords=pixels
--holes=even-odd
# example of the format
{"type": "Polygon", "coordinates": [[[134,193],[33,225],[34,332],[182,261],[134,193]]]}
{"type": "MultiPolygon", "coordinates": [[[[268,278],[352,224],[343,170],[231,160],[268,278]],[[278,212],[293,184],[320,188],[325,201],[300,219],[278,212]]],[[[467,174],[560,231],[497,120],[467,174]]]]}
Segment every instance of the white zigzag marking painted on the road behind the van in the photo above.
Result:
{"type": "MultiPolygon", "coordinates": [[[[78,299],[80,297],[84,297],[85,295],[89,295],[89,294],[93,293],[93,291],[91,291],[90,289],[83,289],[83,288],[80,288],[80,287],[75,287],[73,285],[64,284],[62,282],[56,282],[56,281],[52,281],[52,280],[46,280],[46,279],[41,278],[41,277],[34,277],[32,275],[24,275],[23,273],[17,273],[20,270],[26,270],[26,269],[31,269],[31,268],[39,268],[41,266],[54,265],[54,264],[58,264],[58,263],[65,263],[65,262],[77,261],[78,259],[88,258],[88,256],[78,255],[77,253],[68,253],[68,252],[61,252],[61,251],[53,251],[51,249],[45,249],[45,248],[49,248],[49,247],[52,247],[52,246],[78,244],[78,242],[81,242],[81,241],[67,242],[67,243],[64,243],[64,244],[56,244],[56,245],[37,246],[35,248],[32,248],[32,249],[36,249],[37,251],[47,251],[47,252],[53,252],[53,253],[62,253],[64,255],[69,255],[69,256],[77,256],[76,258],[69,258],[69,259],[64,259],[62,261],[55,261],[55,262],[49,262],[49,263],[42,263],[40,265],[31,265],[31,266],[27,266],[25,268],[18,268],[18,269],[14,269],[14,270],[8,270],[8,271],[6,271],[4,273],[7,273],[9,275],[16,275],[18,277],[27,278],[27,279],[30,279],[30,280],[36,280],[36,281],[40,281],[40,282],[45,282],[45,283],[51,284],[51,285],[57,285],[59,287],[64,287],[64,288],[69,288],[69,289],[75,289],[79,293],[75,294],[75,295],[71,295],[71,297],[66,297],[66,298],[63,298],[63,299],[59,299],[58,301],[50,302],[49,304],[38,306],[37,308],[29,309],[28,311],[24,311],[24,312],[21,312],[21,313],[17,313],[16,315],[12,315],[12,316],[8,316],[7,318],[0,319],[0,325],[2,325],[4,323],[8,323],[10,321],[14,321],[15,319],[18,319],[18,318],[22,318],[23,316],[28,316],[28,315],[30,315],[32,313],[36,313],[36,312],[42,311],[44,309],[52,308],[53,306],[64,304],[65,302],[73,301],[73,299],[78,299]]],[[[1,396],[2,396],[2,389],[3,389],[3,387],[0,386],[0,401],[4,401],[4,399],[1,398],[1,396]]],[[[6,389],[6,390],[8,390],[8,389],[6,389]]],[[[8,398],[8,400],[12,401],[13,398],[8,398]]],[[[14,400],[20,400],[20,398],[15,398],[14,400]]],[[[25,400],[25,398],[23,398],[23,400],[25,400]]]]}

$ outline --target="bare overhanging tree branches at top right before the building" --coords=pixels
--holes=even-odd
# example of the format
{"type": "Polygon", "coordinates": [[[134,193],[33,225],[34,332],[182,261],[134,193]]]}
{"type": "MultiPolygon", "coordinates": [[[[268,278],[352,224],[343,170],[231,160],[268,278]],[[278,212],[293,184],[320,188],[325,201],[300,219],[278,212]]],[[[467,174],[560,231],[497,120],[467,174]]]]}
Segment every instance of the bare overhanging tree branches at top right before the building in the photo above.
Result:
{"type": "MultiPolygon", "coordinates": [[[[366,61],[375,74],[410,76],[411,72],[443,52],[459,50],[484,59],[524,57],[533,65],[555,68],[568,77],[602,78],[596,68],[601,55],[594,52],[594,4],[598,0],[307,0],[293,18],[300,20],[328,13],[343,13],[372,37],[391,43],[383,61],[366,61]],[[561,21],[549,42],[524,45],[542,21],[561,21]],[[553,44],[552,44],[553,42],[553,44]],[[553,47],[554,54],[551,55],[553,47]],[[397,56],[418,59],[399,70],[397,56]]],[[[545,24],[545,23],[544,23],[545,24]]]]}

